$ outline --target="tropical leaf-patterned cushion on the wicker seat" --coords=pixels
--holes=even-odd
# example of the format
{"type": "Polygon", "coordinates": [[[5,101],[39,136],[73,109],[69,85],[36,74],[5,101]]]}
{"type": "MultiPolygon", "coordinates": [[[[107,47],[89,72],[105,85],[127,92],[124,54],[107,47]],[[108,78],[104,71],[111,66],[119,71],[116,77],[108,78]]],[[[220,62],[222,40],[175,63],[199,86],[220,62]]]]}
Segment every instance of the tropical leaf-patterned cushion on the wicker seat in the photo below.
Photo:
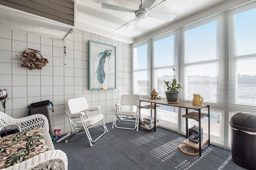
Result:
{"type": "Polygon", "coordinates": [[[44,131],[37,127],[7,135],[0,139],[0,169],[18,164],[49,150],[44,139],[44,131]]]}

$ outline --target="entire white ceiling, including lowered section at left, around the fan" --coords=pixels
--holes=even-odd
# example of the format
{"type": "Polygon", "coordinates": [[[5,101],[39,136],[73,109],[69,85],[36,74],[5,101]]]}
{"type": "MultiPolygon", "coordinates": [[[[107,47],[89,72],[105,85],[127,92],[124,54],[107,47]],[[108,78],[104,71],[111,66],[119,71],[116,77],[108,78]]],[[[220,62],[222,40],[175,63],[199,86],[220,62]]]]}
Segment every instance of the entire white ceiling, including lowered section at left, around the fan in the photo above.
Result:
{"type": "Polygon", "coordinates": [[[176,18],[173,21],[165,21],[147,17],[140,20],[133,30],[128,30],[127,27],[135,17],[134,13],[103,9],[101,4],[104,2],[138,10],[140,0],[76,0],[74,27],[0,6],[0,27],[38,33],[58,39],[65,39],[74,29],[80,29],[133,43],[135,38],[184,20],[206,9],[220,6],[227,1],[232,3],[242,0],[156,0],[149,11],[177,14],[176,18]]]}

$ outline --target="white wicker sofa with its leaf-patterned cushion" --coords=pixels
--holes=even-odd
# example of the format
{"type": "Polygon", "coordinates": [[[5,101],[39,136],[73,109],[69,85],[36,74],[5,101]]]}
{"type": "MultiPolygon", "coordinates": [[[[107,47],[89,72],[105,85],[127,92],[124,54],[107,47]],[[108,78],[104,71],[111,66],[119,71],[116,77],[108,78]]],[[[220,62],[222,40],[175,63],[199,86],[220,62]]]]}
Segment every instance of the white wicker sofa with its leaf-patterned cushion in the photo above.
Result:
{"type": "MultiPolygon", "coordinates": [[[[36,114],[36,115],[31,115],[31,116],[20,118],[20,119],[14,119],[8,116],[7,114],[3,113],[2,111],[0,111],[0,130],[3,130],[3,128],[8,125],[17,125],[20,132],[16,134],[8,135],[6,137],[2,137],[0,139],[0,156],[1,156],[0,167],[4,168],[4,170],[31,170],[31,169],[32,170],[42,170],[42,169],[67,170],[68,169],[68,160],[67,160],[66,154],[61,150],[54,149],[52,138],[50,137],[50,134],[49,134],[48,119],[44,115],[36,114]],[[33,139],[31,139],[32,138],[31,134],[35,135],[33,139]],[[27,141],[21,141],[20,140],[21,138],[19,138],[20,136],[22,136],[21,137],[22,139],[26,139],[27,141]],[[15,141],[15,142],[14,144],[12,144],[12,146],[10,146],[9,144],[12,143],[12,141],[15,141]],[[17,141],[19,143],[17,143],[17,141]],[[33,151],[31,151],[31,149],[28,148],[28,146],[32,147],[32,145],[34,144],[36,144],[37,146],[33,148],[33,151]],[[18,147],[22,146],[22,147],[20,147],[21,149],[19,150],[17,146],[18,147]],[[38,148],[40,152],[38,152],[38,148]],[[6,159],[10,158],[11,155],[16,154],[16,153],[13,153],[14,152],[13,150],[16,150],[16,151],[18,150],[18,154],[20,155],[23,154],[23,156],[15,160],[17,163],[15,162],[15,164],[11,166],[9,165],[9,167],[5,168],[6,165],[4,164],[8,164],[6,159]],[[29,153],[30,155],[25,156],[24,153],[27,153],[27,154],[29,153]],[[6,154],[10,154],[10,155],[6,155],[6,154]],[[18,159],[22,160],[22,162],[19,162],[18,159]]],[[[14,157],[15,155],[12,156],[12,158],[14,157]]]]}

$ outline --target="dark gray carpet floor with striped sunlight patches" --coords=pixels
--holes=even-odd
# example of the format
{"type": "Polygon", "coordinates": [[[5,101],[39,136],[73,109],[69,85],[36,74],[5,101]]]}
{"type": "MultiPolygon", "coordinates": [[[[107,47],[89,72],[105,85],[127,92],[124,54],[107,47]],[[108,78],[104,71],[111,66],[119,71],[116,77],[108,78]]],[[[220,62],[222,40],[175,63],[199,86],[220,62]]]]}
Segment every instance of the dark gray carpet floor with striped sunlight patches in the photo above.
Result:
{"type": "MultiPolygon", "coordinates": [[[[55,149],[68,157],[69,170],[245,170],[232,161],[231,151],[208,144],[202,156],[188,155],[179,149],[185,136],[157,127],[156,132],[112,129],[90,147],[86,134],[74,135],[68,143],[54,142],[55,149]]],[[[102,127],[90,129],[92,139],[103,132],[102,127]]]]}

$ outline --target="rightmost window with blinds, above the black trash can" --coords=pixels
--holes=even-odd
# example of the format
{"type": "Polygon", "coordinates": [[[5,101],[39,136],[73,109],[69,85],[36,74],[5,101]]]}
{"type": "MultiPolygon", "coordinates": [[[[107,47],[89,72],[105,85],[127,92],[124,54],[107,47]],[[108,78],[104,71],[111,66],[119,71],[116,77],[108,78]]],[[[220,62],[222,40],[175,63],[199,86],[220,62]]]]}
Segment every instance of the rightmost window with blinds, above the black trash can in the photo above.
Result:
{"type": "Polygon", "coordinates": [[[256,105],[256,8],[234,14],[234,51],[230,56],[236,86],[235,104],[256,105]]]}

